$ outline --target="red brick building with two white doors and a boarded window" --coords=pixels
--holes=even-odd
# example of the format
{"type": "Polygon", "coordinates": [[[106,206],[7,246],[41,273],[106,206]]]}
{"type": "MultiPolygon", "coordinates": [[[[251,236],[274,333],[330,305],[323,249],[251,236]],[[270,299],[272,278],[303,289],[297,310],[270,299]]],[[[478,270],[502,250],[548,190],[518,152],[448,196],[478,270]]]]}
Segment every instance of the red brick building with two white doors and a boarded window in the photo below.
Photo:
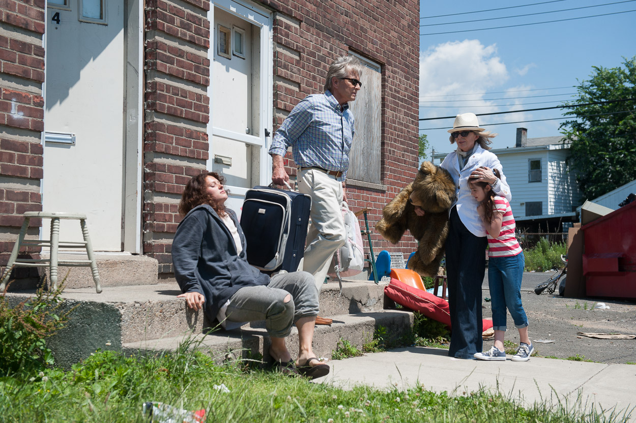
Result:
{"type": "MultiPolygon", "coordinates": [[[[271,176],[270,135],[346,54],[368,65],[352,104],[350,207],[369,208],[373,225],[414,177],[417,1],[126,5],[0,6],[0,264],[22,213],[44,207],[87,213],[96,250],[155,257],[170,277],[183,185],[220,170],[240,206],[244,189],[271,176]]],[[[38,236],[46,223],[34,225],[38,236]]],[[[374,238],[376,252],[416,246],[374,238]]]]}

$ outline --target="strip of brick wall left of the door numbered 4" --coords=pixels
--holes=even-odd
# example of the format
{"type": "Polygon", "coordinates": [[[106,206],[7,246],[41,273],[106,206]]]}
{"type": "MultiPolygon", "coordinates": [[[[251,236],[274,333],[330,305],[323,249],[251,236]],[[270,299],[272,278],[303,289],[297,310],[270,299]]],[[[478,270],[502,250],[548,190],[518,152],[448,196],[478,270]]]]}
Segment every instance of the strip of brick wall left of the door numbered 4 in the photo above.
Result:
{"type": "MultiPolygon", "coordinates": [[[[0,3],[0,265],[13,249],[22,213],[42,210],[44,8],[45,0],[0,3]]],[[[40,225],[31,220],[29,236],[38,236],[40,225]]],[[[39,249],[28,253],[38,257],[39,249]]],[[[17,272],[20,278],[36,274],[24,267],[17,272]]]]}

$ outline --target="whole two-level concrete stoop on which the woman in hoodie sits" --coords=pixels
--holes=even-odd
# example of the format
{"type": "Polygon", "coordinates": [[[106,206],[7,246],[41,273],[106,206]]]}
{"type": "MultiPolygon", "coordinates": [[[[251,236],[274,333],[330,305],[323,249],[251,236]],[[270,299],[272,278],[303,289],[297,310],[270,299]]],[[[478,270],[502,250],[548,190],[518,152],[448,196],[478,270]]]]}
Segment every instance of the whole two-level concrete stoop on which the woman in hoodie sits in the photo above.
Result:
{"type": "MultiPolygon", "coordinates": [[[[97,349],[117,351],[172,351],[184,338],[198,340],[203,332],[212,329],[202,311],[187,309],[184,299],[177,299],[181,291],[175,282],[155,285],[104,287],[97,294],[93,286],[66,288],[64,307],[74,307],[64,330],[49,340],[59,365],[69,367],[97,349]]],[[[8,293],[12,301],[24,299],[24,293],[8,293]]],[[[340,338],[361,347],[371,340],[378,326],[399,337],[410,330],[412,314],[384,310],[384,286],[368,281],[345,281],[342,294],[338,283],[322,286],[320,296],[322,317],[334,320],[332,326],[316,326],[314,349],[316,354],[331,357],[340,338]]],[[[218,354],[243,351],[242,356],[263,354],[268,357],[268,337],[261,325],[252,323],[240,330],[218,330],[204,337],[201,347],[218,354]]],[[[287,342],[295,354],[298,348],[296,328],[287,342]]]]}

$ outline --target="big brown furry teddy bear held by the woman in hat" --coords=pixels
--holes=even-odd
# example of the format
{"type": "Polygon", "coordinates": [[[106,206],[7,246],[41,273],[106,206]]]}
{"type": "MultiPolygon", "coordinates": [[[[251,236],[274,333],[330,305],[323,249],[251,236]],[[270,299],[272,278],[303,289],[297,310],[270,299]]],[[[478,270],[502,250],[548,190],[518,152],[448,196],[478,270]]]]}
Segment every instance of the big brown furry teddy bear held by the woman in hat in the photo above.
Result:
{"type": "Polygon", "coordinates": [[[382,209],[382,219],[375,229],[397,244],[408,229],[418,241],[417,252],[408,262],[409,269],[422,276],[436,276],[444,256],[448,235],[448,210],[455,201],[455,183],[450,173],[425,161],[415,176],[391,203],[382,209]],[[424,211],[418,216],[415,205],[424,211]]]}

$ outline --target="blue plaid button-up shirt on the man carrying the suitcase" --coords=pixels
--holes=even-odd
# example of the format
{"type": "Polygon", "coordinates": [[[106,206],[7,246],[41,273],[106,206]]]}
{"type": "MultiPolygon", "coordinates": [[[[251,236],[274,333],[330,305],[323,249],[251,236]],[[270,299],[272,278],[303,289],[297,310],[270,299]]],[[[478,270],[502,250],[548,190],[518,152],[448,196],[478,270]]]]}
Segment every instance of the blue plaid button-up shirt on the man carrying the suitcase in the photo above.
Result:
{"type": "Polygon", "coordinates": [[[274,134],[270,154],[285,156],[291,145],[294,162],[303,168],[342,171],[347,177],[349,151],[354,137],[354,116],[343,111],[329,90],[308,95],[294,107],[274,134]]]}

